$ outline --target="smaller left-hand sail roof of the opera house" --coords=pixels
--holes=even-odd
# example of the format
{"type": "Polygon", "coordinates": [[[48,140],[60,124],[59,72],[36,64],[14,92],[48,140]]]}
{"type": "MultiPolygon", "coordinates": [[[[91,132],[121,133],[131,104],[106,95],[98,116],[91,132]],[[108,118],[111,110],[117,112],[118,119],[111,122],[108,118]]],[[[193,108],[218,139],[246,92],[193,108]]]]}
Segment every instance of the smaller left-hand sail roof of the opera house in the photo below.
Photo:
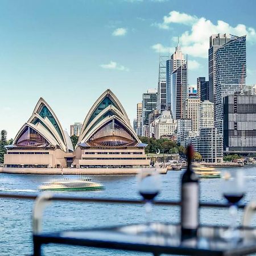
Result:
{"type": "Polygon", "coordinates": [[[63,131],[55,113],[43,98],[39,99],[30,119],[20,128],[10,147],[52,147],[65,152],[73,151],[67,131],[63,131]]]}

